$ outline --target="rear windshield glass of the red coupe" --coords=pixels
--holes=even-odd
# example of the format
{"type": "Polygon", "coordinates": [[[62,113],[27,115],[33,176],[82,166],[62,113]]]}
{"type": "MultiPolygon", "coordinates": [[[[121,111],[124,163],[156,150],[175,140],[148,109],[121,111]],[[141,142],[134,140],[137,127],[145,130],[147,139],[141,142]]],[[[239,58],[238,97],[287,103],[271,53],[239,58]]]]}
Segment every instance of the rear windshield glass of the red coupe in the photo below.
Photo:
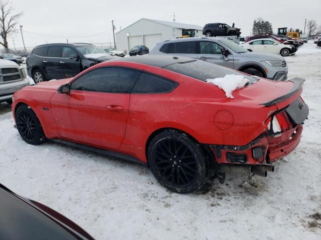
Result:
{"type": "Polygon", "coordinates": [[[228,69],[226,67],[202,60],[192,60],[181,63],[174,63],[167,65],[163,68],[199,79],[201,81],[206,81],[207,79],[214,79],[217,77],[224,77],[227,74],[242,75],[244,76],[244,78],[249,80],[249,84],[252,84],[254,81],[257,81],[257,79],[252,76],[248,76],[233,69],[228,69]]]}

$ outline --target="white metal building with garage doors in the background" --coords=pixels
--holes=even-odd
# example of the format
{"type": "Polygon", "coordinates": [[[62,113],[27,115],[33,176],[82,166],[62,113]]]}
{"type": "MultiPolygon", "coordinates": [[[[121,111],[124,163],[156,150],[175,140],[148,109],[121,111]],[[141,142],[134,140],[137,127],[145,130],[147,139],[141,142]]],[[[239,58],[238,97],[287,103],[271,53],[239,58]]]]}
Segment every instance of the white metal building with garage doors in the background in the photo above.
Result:
{"type": "Polygon", "coordinates": [[[145,45],[151,50],[157,42],[182,35],[182,29],[196,29],[196,36],[204,36],[203,26],[141,18],[116,32],[116,47],[127,53],[135,45],[145,45]]]}

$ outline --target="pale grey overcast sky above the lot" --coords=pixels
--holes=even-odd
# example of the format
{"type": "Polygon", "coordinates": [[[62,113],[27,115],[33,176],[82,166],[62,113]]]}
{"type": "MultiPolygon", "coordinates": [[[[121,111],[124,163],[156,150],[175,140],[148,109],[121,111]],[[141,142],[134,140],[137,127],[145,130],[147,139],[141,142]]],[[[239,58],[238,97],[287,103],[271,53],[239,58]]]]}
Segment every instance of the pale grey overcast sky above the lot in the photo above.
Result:
{"type": "MultiPolygon", "coordinates": [[[[113,41],[111,20],[115,20],[119,31],[143,17],[173,21],[174,12],[176,21],[182,23],[203,26],[208,22],[229,25],[235,22],[242,28],[243,36],[250,34],[257,17],[270,21],[274,31],[283,26],[303,31],[305,18],[315,19],[321,25],[321,0],[12,0],[12,3],[17,12],[24,12],[20,24],[27,47],[46,41],[66,42],[66,38],[69,42],[109,42],[113,41]]],[[[10,37],[9,44],[23,46],[20,31],[10,37]]]]}

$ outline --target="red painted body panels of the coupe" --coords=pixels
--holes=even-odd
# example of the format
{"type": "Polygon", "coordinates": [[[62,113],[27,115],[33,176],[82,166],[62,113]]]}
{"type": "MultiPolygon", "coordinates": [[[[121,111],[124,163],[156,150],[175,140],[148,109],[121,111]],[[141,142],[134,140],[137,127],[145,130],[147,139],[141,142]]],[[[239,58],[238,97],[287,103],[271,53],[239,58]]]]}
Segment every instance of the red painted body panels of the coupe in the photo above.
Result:
{"type": "MultiPolygon", "coordinates": [[[[180,73],[135,62],[107,61],[84,70],[74,78],[42,82],[17,91],[12,109],[15,117],[17,106],[28,104],[38,116],[47,138],[68,139],[129,154],[147,162],[149,137],[162,128],[180,129],[203,144],[244,146],[250,143],[268,131],[270,116],[297,99],[302,89],[277,104],[265,106],[262,103],[284,95],[292,86],[291,81],[261,78],[233,91],[235,98],[226,98],[225,92],[217,86],[180,73]],[[172,79],[179,86],[160,94],[57,92],[59,86],[102,66],[143,70],[172,79]]],[[[252,157],[253,146],[237,152],[248,155],[248,164],[262,163],[267,154],[267,159],[272,162],[295,148],[300,139],[302,127],[299,127],[299,134],[291,142],[288,139],[294,128],[282,138],[263,137],[255,143],[253,146],[264,146],[265,149],[264,158],[259,161],[252,157]],[[271,151],[269,145],[273,142],[277,144],[271,151]],[[287,150],[281,151],[285,147],[287,150]]],[[[223,149],[221,156],[212,150],[218,162],[228,162],[227,150],[223,149]]]]}

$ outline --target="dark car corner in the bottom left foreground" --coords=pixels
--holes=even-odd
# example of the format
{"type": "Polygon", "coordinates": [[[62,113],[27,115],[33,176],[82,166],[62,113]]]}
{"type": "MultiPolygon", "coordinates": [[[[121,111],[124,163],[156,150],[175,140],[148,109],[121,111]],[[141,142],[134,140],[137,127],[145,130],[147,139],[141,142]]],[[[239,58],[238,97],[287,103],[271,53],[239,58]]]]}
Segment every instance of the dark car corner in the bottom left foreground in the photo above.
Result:
{"type": "Polygon", "coordinates": [[[50,207],[0,184],[0,239],[94,240],[84,229],[50,207]]]}

